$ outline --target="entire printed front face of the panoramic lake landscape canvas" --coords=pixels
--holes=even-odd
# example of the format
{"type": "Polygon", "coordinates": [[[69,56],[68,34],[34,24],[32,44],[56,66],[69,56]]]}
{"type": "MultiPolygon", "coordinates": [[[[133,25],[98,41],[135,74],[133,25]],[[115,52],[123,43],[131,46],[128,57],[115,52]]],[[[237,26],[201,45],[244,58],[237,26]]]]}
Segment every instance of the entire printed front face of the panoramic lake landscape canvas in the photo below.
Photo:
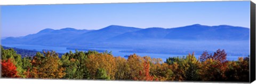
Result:
{"type": "Polygon", "coordinates": [[[250,1],[0,8],[1,78],[249,82],[250,1]]]}

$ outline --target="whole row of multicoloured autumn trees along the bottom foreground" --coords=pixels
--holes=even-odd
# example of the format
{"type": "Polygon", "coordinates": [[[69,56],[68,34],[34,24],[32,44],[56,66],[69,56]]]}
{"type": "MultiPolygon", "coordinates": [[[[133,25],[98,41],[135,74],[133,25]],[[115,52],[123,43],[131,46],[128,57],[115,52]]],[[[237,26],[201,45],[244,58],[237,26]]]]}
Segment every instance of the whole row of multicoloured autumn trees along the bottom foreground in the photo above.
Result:
{"type": "Polygon", "coordinates": [[[249,81],[249,57],[227,61],[225,50],[169,57],[166,61],[130,55],[127,59],[109,52],[37,52],[21,57],[1,47],[2,78],[138,80],[138,81],[249,81]]]}

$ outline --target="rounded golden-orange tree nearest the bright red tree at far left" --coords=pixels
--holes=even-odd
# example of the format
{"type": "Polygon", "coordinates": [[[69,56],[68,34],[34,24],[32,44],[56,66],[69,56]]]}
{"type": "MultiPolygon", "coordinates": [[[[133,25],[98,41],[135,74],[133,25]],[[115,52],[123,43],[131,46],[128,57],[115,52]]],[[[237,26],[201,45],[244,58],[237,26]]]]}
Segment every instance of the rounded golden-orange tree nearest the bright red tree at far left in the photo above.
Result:
{"type": "Polygon", "coordinates": [[[60,58],[54,51],[44,54],[38,52],[32,60],[31,78],[60,79],[66,74],[61,65],[60,58]]]}

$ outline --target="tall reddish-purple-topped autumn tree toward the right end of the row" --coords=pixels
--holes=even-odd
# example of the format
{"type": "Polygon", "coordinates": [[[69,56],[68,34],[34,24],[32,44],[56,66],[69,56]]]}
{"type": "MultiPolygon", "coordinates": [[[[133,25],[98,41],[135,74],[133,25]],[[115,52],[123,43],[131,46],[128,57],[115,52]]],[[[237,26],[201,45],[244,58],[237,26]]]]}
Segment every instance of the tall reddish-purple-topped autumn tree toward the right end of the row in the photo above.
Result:
{"type": "Polygon", "coordinates": [[[228,69],[226,56],[227,54],[224,49],[222,51],[218,49],[213,55],[209,55],[207,52],[204,52],[200,57],[202,62],[202,80],[225,81],[227,79],[225,72],[228,69]]]}

